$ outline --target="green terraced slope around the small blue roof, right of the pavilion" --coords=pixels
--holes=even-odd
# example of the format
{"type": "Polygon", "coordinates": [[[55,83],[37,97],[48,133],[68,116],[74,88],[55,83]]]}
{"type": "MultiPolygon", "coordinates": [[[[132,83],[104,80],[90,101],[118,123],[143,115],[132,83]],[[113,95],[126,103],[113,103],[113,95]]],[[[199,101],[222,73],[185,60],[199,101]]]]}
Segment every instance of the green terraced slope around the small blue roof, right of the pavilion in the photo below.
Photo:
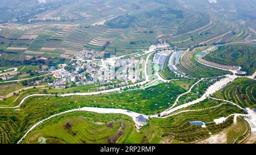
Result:
{"type": "MultiPolygon", "coordinates": [[[[195,104],[193,108],[206,108],[221,104],[217,100],[208,100],[195,104]]],[[[233,123],[233,116],[224,123],[215,124],[213,119],[228,116],[232,113],[243,111],[230,104],[222,104],[220,107],[204,111],[183,112],[164,119],[151,118],[148,125],[143,127],[139,133],[131,134],[125,143],[191,143],[209,137],[209,132],[216,134],[223,129],[230,127],[233,123]],[[197,125],[190,125],[190,121],[200,120],[206,125],[202,128],[197,125]]]]}

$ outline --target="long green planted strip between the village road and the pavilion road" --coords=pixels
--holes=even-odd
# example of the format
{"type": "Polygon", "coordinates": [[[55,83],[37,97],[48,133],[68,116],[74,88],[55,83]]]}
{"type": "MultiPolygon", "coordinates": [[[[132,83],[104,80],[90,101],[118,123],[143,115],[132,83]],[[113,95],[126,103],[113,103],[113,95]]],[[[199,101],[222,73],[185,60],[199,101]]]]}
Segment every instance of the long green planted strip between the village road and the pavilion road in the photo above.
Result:
{"type": "Polygon", "coordinates": [[[93,95],[92,97],[31,97],[27,103],[47,103],[47,107],[58,103],[63,106],[76,108],[77,106],[123,108],[143,114],[156,114],[170,107],[177,95],[184,93],[184,89],[171,83],[162,83],[145,90],[131,90],[121,94],[93,95]],[[159,100],[161,97],[163,100],[159,100]],[[48,98],[48,99],[46,99],[48,98]],[[122,100],[122,102],[120,102],[122,100]]]}

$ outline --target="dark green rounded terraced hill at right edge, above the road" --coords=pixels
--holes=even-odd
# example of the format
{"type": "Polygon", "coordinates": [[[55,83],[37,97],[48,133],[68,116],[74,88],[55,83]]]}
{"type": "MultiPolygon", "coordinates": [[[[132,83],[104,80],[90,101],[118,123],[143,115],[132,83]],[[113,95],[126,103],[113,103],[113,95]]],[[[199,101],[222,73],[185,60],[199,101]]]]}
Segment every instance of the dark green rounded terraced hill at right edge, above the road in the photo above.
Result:
{"type": "Polygon", "coordinates": [[[238,65],[247,74],[253,74],[256,70],[256,45],[224,45],[204,56],[204,59],[223,65],[238,65]]]}

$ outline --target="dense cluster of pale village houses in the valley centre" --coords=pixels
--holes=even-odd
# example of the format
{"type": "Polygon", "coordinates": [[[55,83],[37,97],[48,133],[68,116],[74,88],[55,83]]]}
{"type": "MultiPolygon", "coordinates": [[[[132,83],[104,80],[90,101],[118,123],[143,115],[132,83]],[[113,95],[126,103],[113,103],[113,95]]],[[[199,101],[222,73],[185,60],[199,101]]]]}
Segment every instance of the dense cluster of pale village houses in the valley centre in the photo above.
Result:
{"type": "MultiPolygon", "coordinates": [[[[71,82],[75,82],[77,86],[82,86],[92,83],[111,83],[117,80],[118,83],[112,83],[112,86],[121,87],[128,85],[128,81],[136,82],[141,80],[139,72],[137,72],[137,68],[139,68],[138,59],[134,57],[98,59],[100,56],[104,56],[104,53],[82,50],[75,55],[75,63],[70,65],[75,70],[69,72],[65,68],[57,71],[55,68],[49,68],[48,71],[54,72],[53,77],[55,77],[55,80],[48,85],[63,89],[67,83],[71,82]],[[79,72],[81,69],[83,69],[82,73],[79,72]]],[[[98,89],[109,89],[109,86],[101,86],[98,89]]]]}

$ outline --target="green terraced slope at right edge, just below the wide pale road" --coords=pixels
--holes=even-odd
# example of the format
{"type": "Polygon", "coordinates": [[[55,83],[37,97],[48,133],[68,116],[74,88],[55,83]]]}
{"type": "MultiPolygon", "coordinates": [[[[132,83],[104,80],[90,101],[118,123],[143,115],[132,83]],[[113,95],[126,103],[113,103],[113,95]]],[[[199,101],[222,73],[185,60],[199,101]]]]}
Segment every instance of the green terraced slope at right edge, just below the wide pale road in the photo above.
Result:
{"type": "Polygon", "coordinates": [[[242,107],[256,108],[256,81],[249,78],[237,78],[217,91],[214,97],[230,100],[242,107]]]}

